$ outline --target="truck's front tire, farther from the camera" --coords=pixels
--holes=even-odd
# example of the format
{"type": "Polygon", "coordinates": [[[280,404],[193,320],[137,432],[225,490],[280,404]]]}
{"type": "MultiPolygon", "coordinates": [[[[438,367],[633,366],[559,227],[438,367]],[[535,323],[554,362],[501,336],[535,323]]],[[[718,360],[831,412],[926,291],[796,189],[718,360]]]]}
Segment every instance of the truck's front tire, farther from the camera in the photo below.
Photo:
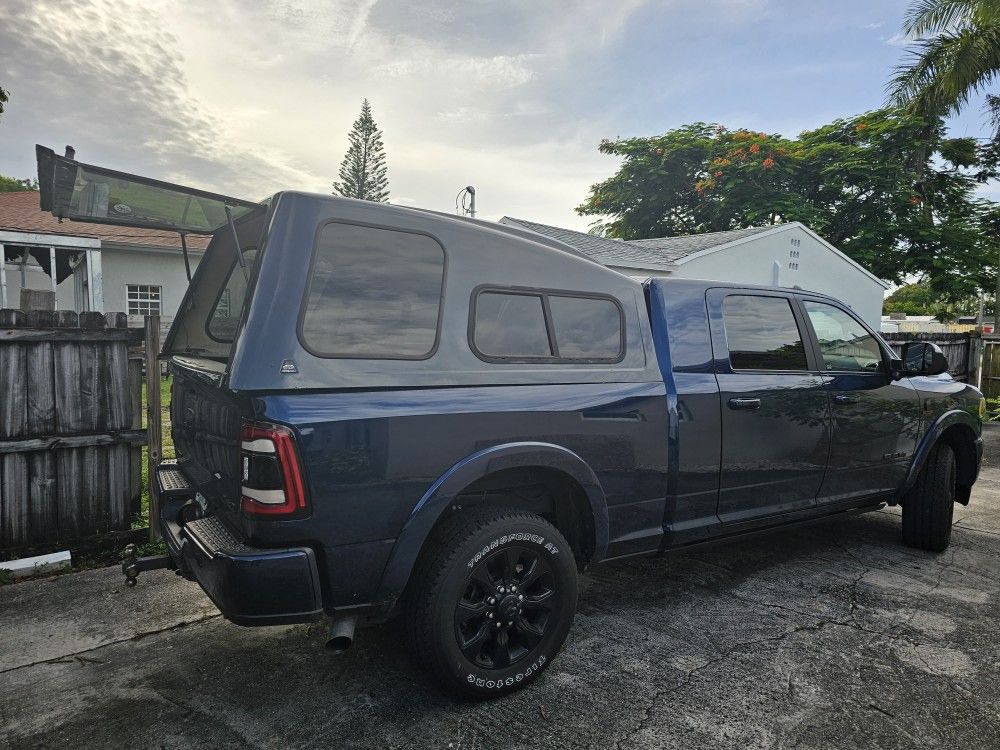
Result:
{"type": "Polygon", "coordinates": [[[938,443],[903,500],[903,543],[908,547],[930,552],[948,548],[955,512],[955,475],[955,451],[947,443],[938,443]]]}

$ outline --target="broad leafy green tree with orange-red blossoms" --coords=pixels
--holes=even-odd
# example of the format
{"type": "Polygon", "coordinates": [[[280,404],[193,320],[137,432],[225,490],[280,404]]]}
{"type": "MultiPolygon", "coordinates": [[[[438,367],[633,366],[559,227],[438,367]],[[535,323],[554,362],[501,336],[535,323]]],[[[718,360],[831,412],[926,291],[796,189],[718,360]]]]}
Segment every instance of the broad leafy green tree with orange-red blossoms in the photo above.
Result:
{"type": "Polygon", "coordinates": [[[993,278],[1000,216],[974,195],[979,151],[936,118],[884,109],[798,138],[696,123],[600,150],[623,162],[577,211],[610,215],[612,237],[801,221],[880,278],[926,278],[943,298],[993,278]]]}

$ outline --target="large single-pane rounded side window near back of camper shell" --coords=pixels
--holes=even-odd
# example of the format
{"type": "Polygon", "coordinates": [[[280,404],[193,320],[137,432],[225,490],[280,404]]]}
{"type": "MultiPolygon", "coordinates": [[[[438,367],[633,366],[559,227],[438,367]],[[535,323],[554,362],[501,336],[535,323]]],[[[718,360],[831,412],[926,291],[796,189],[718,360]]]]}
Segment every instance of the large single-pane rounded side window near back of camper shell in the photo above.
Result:
{"type": "Polygon", "coordinates": [[[327,224],[313,257],[302,343],[326,357],[427,357],[443,280],[444,250],[430,237],[327,224]]]}

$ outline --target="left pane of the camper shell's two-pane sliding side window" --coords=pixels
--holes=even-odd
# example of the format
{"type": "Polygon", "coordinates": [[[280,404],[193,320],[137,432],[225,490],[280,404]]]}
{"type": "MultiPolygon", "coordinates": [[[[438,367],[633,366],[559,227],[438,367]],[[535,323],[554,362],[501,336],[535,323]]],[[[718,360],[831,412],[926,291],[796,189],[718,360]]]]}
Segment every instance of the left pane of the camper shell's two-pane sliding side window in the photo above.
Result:
{"type": "Polygon", "coordinates": [[[551,357],[542,298],[483,292],[476,297],[476,349],[489,357],[551,357]]]}

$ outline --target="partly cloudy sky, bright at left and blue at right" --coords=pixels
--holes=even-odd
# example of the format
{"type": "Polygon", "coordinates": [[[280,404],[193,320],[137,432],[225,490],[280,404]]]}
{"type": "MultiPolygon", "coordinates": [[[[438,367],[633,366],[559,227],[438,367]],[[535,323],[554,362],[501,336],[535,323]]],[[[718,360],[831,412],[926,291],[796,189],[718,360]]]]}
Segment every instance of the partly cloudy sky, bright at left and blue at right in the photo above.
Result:
{"type": "MultiPolygon", "coordinates": [[[[329,193],[367,97],[391,201],[585,230],[602,138],[877,108],[908,0],[0,0],[0,174],[34,144],[245,198],[329,193]]],[[[975,105],[952,135],[986,135],[975,105]]]]}

